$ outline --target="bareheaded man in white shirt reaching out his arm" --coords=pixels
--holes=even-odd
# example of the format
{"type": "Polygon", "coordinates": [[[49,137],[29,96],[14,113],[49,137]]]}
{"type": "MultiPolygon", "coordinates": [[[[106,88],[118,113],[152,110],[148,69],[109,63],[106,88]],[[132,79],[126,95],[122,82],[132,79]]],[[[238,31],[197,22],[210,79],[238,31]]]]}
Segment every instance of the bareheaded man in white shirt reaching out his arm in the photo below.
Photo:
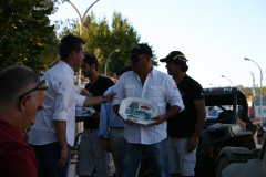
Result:
{"type": "Polygon", "coordinates": [[[73,67],[84,59],[84,43],[72,34],[63,37],[60,44],[61,61],[43,76],[50,87],[29,137],[29,144],[37,155],[39,177],[66,177],[70,146],[74,143],[75,106],[89,107],[112,98],[112,93],[104,97],[75,94],[73,67]]]}

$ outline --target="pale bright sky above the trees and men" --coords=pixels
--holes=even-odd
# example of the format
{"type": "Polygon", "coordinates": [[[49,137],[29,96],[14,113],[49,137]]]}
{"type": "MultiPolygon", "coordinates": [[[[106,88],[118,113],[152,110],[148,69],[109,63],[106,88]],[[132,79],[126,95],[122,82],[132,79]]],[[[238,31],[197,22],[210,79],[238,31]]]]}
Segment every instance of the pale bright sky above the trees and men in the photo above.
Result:
{"type": "MultiPolygon", "coordinates": [[[[71,2],[83,17],[94,0],[71,2]]],[[[229,86],[221,75],[234,86],[252,87],[250,72],[260,86],[258,66],[244,58],[266,71],[265,0],[100,0],[92,10],[110,23],[114,10],[121,12],[141,35],[141,42],[153,45],[158,59],[174,50],[183,52],[188,60],[187,74],[203,87],[229,86]]],[[[52,21],[74,18],[78,13],[68,2],[50,17],[52,21]]],[[[167,72],[165,63],[157,69],[167,72]]]]}

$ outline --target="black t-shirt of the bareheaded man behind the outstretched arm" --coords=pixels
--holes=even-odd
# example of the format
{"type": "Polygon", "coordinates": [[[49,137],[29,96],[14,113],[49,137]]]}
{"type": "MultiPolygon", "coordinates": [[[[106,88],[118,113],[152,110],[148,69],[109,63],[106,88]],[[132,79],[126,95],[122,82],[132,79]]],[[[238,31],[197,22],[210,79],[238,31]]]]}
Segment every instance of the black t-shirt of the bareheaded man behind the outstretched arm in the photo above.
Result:
{"type": "MultiPolygon", "coordinates": [[[[111,79],[105,77],[105,76],[101,76],[99,75],[99,79],[96,80],[96,82],[94,84],[86,84],[85,88],[90,92],[91,96],[102,96],[104,94],[104,92],[110,87],[113,86],[114,83],[111,79]]],[[[95,110],[95,112],[101,112],[101,104],[93,106],[93,108],[95,110]]],[[[85,129],[98,129],[99,128],[99,121],[93,121],[93,119],[86,119],[84,122],[84,128],[85,129]]]]}

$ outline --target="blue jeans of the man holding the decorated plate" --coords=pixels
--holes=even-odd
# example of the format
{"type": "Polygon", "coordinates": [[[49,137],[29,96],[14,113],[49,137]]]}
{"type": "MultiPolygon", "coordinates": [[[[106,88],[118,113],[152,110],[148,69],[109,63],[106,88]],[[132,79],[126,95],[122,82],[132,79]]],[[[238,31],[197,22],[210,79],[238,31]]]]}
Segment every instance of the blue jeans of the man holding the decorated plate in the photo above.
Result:
{"type": "Polygon", "coordinates": [[[120,176],[135,177],[143,155],[146,155],[156,177],[171,176],[167,138],[152,145],[132,144],[124,139],[120,176]]]}

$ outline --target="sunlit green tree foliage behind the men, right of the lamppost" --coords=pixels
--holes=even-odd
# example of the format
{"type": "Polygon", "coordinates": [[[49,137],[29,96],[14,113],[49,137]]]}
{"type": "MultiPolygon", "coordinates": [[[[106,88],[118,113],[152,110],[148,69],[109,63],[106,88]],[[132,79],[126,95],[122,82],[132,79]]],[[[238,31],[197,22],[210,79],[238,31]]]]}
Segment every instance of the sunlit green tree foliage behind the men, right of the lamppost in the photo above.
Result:
{"type": "MultiPolygon", "coordinates": [[[[80,37],[78,19],[65,21],[62,29],[60,38],[69,33],[80,37]]],[[[108,75],[112,75],[119,74],[122,66],[130,64],[129,54],[124,52],[134,48],[141,37],[127,19],[119,12],[113,13],[111,24],[106,18],[96,19],[95,14],[91,12],[88,22],[84,23],[83,39],[86,41],[85,52],[94,54],[99,60],[99,73],[105,73],[105,63],[108,63],[108,75]],[[113,52],[117,48],[120,52],[113,52]],[[110,56],[112,52],[113,54],[110,56]]],[[[153,56],[152,63],[155,66],[158,65],[156,55],[153,56]]],[[[74,70],[76,71],[76,69],[74,70]]]]}

